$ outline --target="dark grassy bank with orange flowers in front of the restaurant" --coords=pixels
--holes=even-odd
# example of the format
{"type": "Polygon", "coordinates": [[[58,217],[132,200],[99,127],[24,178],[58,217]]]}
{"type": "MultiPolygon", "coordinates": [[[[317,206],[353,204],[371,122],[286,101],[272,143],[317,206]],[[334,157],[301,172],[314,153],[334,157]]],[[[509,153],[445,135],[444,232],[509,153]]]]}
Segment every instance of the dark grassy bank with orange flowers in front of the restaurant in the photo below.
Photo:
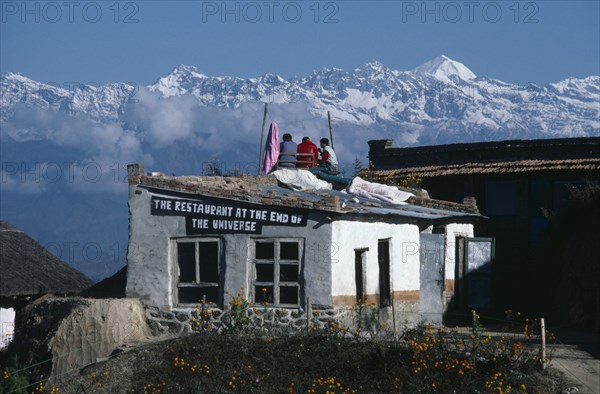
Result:
{"type": "MultiPolygon", "coordinates": [[[[498,356],[492,362],[442,347],[430,347],[428,355],[414,346],[429,346],[435,334],[409,334],[415,337],[405,337],[408,342],[335,335],[195,335],[115,355],[57,382],[57,387],[61,392],[83,387],[99,393],[491,392],[508,386],[513,392],[546,393],[568,387],[559,373],[541,372],[528,356],[513,361],[498,356]]],[[[493,349],[496,342],[486,346],[493,349]]]]}

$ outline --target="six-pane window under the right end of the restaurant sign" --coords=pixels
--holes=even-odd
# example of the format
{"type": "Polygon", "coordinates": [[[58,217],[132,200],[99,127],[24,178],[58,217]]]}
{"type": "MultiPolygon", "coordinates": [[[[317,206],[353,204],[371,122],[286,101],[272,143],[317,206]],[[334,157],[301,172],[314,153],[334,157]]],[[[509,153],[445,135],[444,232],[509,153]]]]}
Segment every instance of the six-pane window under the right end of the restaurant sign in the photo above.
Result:
{"type": "Polygon", "coordinates": [[[303,241],[297,238],[255,239],[251,249],[254,301],[299,306],[303,241]]]}

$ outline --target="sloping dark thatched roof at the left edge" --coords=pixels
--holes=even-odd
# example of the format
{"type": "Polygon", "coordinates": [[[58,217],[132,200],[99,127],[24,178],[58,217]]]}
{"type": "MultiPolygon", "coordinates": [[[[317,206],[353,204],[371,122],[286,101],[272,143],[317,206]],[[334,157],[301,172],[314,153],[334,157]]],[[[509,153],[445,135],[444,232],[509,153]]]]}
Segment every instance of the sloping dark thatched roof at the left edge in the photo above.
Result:
{"type": "Polygon", "coordinates": [[[79,292],[94,282],[33,238],[0,220],[0,304],[18,296],[79,292]]]}

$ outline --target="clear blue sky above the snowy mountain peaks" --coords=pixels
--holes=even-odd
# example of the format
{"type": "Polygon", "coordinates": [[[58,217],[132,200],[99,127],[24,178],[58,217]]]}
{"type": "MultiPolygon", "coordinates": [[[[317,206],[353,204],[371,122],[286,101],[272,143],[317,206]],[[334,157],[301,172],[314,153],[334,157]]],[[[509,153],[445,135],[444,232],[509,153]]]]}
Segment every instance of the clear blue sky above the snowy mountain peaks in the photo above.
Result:
{"type": "Polygon", "coordinates": [[[477,75],[547,83],[600,74],[598,1],[0,1],[0,71],[40,82],[148,84],[306,75],[440,54],[477,75]]]}

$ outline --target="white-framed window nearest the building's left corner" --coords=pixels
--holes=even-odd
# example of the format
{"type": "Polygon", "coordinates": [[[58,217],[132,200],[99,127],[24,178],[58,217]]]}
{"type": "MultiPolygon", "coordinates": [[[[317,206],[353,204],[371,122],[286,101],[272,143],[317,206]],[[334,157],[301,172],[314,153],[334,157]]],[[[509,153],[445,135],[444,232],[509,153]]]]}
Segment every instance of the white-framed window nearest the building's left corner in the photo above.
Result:
{"type": "Polygon", "coordinates": [[[218,238],[182,238],[174,240],[177,262],[177,303],[219,304],[221,295],[221,240],[218,238]]]}

